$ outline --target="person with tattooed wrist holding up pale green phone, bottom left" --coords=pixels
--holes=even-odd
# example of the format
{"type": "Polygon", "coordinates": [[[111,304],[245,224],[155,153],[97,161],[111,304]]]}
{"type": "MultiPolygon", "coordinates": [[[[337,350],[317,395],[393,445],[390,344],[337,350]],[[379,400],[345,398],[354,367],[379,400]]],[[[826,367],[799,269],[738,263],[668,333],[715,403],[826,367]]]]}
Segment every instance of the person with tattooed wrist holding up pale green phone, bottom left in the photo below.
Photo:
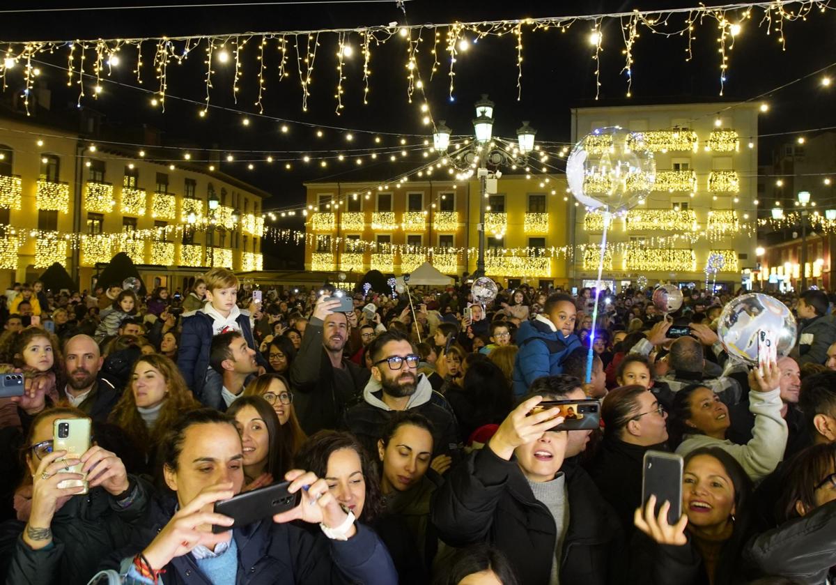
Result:
{"type": "Polygon", "coordinates": [[[50,408],[29,427],[24,445],[27,470],[18,490],[18,520],[0,526],[0,577],[8,583],[84,585],[104,557],[129,543],[131,525],[148,505],[145,485],[125,472],[115,454],[94,445],[77,459],[53,450],[58,418],[87,418],[76,408],[50,408]],[[84,464],[86,478],[67,473],[84,464]],[[64,480],[89,482],[59,487],[64,480]],[[23,497],[31,494],[31,500],[23,497]]]}

